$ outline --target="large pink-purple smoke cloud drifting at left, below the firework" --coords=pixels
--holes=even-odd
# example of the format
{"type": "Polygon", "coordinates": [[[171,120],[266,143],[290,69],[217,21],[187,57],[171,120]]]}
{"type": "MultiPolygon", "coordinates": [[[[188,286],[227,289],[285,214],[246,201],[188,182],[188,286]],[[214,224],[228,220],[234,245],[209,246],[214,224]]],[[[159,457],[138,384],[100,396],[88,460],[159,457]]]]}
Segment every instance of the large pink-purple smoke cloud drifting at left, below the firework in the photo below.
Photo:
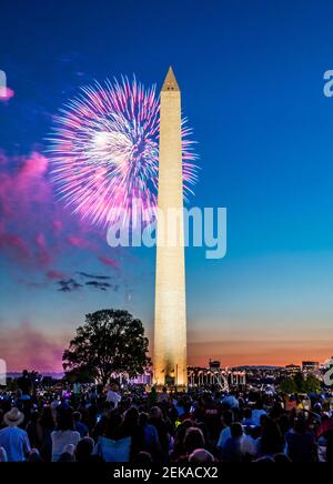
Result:
{"type": "Polygon", "coordinates": [[[88,251],[108,266],[104,233],[71,214],[54,199],[49,160],[38,150],[8,157],[0,150],[0,248],[2,255],[29,270],[53,269],[70,248],[88,251]]]}

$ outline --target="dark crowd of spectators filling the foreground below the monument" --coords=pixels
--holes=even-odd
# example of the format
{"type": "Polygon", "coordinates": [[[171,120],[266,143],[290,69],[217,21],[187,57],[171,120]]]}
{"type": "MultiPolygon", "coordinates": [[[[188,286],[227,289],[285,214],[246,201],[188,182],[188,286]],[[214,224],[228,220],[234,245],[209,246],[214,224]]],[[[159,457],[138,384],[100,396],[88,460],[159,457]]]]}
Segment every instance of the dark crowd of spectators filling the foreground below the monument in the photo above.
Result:
{"type": "Polygon", "coordinates": [[[272,387],[32,390],[28,372],[19,381],[18,391],[0,389],[0,462],[333,462],[322,395],[307,412],[282,405],[272,387]]]}

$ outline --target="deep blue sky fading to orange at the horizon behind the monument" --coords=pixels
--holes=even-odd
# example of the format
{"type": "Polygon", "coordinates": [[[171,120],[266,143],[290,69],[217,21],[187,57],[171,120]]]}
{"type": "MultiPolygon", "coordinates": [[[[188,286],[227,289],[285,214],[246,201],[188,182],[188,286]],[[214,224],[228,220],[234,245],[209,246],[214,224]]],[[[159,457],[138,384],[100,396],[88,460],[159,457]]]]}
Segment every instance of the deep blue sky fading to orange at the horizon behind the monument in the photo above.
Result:
{"type": "MultiPolygon", "coordinates": [[[[290,363],[332,353],[333,98],[323,95],[323,73],[333,69],[332,16],[329,1],[1,7],[0,69],[14,91],[0,104],[9,159],[46,153],[52,115],[80,85],[132,73],[161,85],[173,65],[199,142],[191,204],[228,208],[226,258],[186,251],[191,362],[290,363]]],[[[154,253],[115,259],[120,291],[63,294],[18,282],[30,269],[3,252],[0,342],[8,347],[16,331],[29,340],[37,329],[60,347],[87,311],[108,305],[125,305],[150,332],[154,253]]],[[[56,269],[79,265],[111,271],[95,254],[73,260],[70,252],[56,269]]]]}

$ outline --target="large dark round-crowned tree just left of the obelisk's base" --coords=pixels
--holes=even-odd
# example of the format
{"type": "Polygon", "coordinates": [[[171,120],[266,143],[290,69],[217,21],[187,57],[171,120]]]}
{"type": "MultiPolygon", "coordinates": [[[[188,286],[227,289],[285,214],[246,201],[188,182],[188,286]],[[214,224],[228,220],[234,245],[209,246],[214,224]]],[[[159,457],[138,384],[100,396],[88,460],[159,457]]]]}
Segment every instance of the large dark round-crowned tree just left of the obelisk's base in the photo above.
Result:
{"type": "Polygon", "coordinates": [[[112,373],[137,376],[150,364],[148,344],[141,321],[128,311],[97,311],[77,329],[63,353],[63,369],[71,374],[82,371],[103,385],[112,373]]]}

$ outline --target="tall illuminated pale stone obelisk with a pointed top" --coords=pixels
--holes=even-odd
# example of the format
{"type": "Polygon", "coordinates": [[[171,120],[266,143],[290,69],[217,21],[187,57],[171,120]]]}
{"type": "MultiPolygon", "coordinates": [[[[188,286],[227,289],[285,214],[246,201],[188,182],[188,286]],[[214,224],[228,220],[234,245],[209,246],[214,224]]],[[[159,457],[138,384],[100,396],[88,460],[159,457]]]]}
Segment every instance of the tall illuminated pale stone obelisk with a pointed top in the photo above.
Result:
{"type": "Polygon", "coordinates": [[[186,386],[181,93],[171,67],[161,90],[158,209],[154,383],[186,386]],[[171,212],[178,213],[179,230],[167,224],[171,212]]]}

